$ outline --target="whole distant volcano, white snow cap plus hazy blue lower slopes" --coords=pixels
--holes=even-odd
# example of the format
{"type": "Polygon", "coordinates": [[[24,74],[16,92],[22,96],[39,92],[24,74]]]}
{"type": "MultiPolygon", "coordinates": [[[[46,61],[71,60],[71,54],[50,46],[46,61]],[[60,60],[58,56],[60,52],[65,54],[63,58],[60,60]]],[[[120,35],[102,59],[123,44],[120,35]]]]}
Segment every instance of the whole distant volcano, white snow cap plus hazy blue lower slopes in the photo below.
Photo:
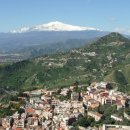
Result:
{"type": "MultiPolygon", "coordinates": [[[[51,50],[53,50],[53,53],[55,53],[57,50],[60,51],[60,48],[62,48],[62,52],[71,48],[81,47],[88,41],[99,38],[106,34],[108,34],[108,32],[100,31],[99,29],[92,27],[80,27],[61,22],[51,22],[48,24],[37,25],[35,27],[14,30],[9,33],[0,33],[0,53],[19,54],[24,52],[23,50],[28,50],[29,52],[34,50],[37,52],[37,48],[39,47],[41,47],[41,50],[43,50],[43,53],[38,52],[38,54],[41,55],[45,54],[45,52],[47,52],[47,54],[48,52],[52,53],[51,50]],[[75,40],[76,46],[70,42],[69,48],[68,44],[66,45],[68,40],[75,40]],[[57,43],[61,46],[60,48],[56,48],[57,43]],[[29,50],[30,48],[31,50],[29,50]]],[[[25,54],[22,54],[24,55],[22,57],[27,58],[30,56],[27,55],[26,52],[25,54]]],[[[38,54],[36,54],[36,56],[38,54]]]]}

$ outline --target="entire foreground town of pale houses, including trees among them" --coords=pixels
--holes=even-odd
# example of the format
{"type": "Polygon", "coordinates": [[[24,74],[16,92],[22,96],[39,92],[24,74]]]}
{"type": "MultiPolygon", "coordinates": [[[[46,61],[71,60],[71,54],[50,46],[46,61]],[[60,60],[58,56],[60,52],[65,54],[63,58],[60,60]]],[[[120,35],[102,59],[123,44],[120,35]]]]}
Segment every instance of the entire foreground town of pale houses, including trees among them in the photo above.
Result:
{"type": "Polygon", "coordinates": [[[130,120],[127,111],[130,96],[112,89],[106,82],[93,82],[90,86],[75,83],[62,89],[37,89],[23,92],[17,98],[20,107],[11,116],[1,118],[2,130],[130,129],[130,124],[124,124],[130,120]],[[99,111],[104,106],[112,108],[109,115],[111,124],[102,124],[102,120],[108,118],[105,112],[99,111]],[[78,124],[83,119],[90,122],[78,124]]]}

